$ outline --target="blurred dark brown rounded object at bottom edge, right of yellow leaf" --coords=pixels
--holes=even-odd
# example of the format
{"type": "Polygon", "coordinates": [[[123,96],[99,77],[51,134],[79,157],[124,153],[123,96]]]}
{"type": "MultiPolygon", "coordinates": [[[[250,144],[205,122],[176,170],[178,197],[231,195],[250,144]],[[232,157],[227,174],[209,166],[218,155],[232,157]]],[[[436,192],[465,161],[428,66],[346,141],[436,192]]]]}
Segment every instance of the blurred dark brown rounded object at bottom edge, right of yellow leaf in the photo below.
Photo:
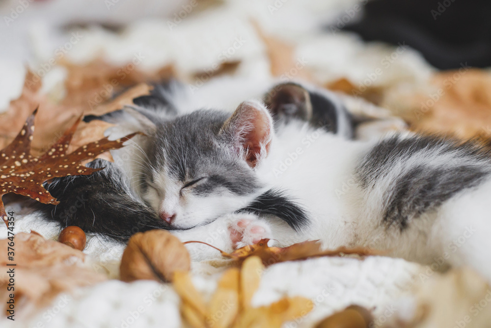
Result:
{"type": "Polygon", "coordinates": [[[374,318],[369,310],[358,305],[351,305],[328,316],[315,328],[369,328],[373,326],[374,318]]]}

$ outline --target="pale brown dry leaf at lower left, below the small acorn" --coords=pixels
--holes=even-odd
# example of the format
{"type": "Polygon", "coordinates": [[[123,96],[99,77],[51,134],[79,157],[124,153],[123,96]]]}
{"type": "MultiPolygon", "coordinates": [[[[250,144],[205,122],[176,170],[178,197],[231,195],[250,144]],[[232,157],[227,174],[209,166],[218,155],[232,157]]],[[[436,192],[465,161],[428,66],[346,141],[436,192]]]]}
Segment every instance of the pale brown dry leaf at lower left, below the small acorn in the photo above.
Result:
{"type": "Polygon", "coordinates": [[[15,268],[15,305],[18,311],[28,311],[31,306],[34,306],[33,310],[44,307],[59,293],[107,280],[105,275],[84,265],[85,255],[78,249],[44,239],[34,232],[17,233],[14,241],[15,262],[11,262],[7,258],[10,240],[0,240],[0,285],[3,286],[0,300],[5,305],[9,298],[7,270],[15,268]],[[12,263],[16,266],[7,266],[12,263]]]}

